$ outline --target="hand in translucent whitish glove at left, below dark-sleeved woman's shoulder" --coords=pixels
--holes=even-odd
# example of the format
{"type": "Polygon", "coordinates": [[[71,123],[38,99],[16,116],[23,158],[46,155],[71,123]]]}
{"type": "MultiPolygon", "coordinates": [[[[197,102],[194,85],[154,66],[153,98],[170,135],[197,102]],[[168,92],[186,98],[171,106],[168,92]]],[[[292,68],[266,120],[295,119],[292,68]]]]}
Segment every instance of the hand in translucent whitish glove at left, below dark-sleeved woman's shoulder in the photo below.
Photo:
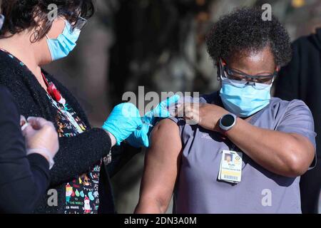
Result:
{"type": "MultiPolygon", "coordinates": [[[[21,117],[21,122],[26,121],[21,117]]],[[[29,117],[22,130],[26,140],[27,155],[39,153],[46,157],[49,169],[54,165],[54,156],[59,150],[58,134],[54,124],[44,118],[29,117]]]]}

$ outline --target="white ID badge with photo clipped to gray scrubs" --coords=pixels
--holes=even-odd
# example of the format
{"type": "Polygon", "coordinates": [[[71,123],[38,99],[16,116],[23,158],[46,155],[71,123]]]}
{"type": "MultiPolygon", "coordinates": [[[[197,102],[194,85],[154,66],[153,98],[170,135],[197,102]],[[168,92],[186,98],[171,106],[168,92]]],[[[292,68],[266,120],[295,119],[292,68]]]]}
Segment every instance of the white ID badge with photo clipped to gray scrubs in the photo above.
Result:
{"type": "Polygon", "coordinates": [[[223,150],[218,180],[238,183],[242,177],[242,152],[223,150]]]}

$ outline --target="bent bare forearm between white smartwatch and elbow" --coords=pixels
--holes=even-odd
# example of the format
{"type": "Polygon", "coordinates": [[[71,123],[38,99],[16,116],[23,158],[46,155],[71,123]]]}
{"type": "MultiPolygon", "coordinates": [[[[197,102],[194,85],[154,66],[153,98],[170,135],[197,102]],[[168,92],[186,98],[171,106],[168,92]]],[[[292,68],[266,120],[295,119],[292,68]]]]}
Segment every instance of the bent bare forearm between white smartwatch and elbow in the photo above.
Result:
{"type": "Polygon", "coordinates": [[[226,135],[255,162],[278,175],[298,176],[310,165],[302,165],[300,150],[305,148],[290,133],[258,128],[238,118],[226,135]]]}

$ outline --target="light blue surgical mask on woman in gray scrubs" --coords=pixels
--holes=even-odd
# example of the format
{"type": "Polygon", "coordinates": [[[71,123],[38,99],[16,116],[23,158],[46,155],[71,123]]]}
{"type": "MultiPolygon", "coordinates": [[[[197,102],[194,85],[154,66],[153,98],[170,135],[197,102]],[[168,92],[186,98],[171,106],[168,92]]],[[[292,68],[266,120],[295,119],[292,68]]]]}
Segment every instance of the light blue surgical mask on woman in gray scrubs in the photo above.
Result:
{"type": "Polygon", "coordinates": [[[250,83],[244,86],[240,81],[221,77],[220,98],[226,110],[239,117],[248,117],[270,103],[270,85],[250,83]]]}

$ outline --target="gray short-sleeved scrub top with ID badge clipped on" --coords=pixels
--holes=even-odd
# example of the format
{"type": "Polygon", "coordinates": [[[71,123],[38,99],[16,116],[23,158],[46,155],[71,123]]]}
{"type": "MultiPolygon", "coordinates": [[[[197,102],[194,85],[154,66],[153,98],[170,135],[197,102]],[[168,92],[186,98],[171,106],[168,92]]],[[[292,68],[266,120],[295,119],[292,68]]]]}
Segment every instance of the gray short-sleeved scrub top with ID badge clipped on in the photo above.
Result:
{"type": "MultiPolygon", "coordinates": [[[[200,103],[223,107],[218,93],[203,96],[200,103]]],[[[274,174],[243,153],[242,181],[220,181],[222,151],[241,150],[220,133],[187,125],[181,118],[170,119],[178,124],[183,144],[173,213],[301,213],[300,177],[274,174]]],[[[270,104],[255,113],[249,123],[304,135],[315,146],[312,114],[302,100],[271,98],[270,104]]]]}

